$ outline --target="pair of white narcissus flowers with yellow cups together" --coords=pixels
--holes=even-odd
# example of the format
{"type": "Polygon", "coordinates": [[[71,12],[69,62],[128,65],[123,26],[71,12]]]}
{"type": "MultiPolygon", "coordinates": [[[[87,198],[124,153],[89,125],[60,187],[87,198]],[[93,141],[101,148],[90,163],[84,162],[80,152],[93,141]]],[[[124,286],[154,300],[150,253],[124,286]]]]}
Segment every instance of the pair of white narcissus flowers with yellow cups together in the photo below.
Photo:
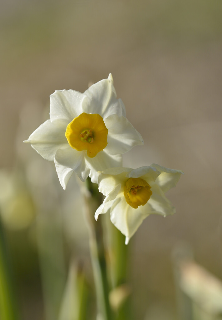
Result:
{"type": "Polygon", "coordinates": [[[84,93],[57,90],[50,102],[50,119],[24,142],[44,159],[54,160],[64,189],[73,172],[82,181],[89,176],[98,183],[106,198],[96,219],[110,212],[127,244],[149,214],[175,212],[165,192],[176,185],[182,171],[157,164],[134,170],[122,167],[122,154],[142,145],[143,139],[125,117],[111,74],[84,93]]]}

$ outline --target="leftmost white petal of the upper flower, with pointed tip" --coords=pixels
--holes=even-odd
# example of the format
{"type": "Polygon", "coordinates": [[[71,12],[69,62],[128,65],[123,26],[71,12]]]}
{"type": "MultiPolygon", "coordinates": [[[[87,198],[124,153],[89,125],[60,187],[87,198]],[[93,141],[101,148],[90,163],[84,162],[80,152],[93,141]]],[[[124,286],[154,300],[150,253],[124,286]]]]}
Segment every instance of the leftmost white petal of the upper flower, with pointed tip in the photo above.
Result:
{"type": "Polygon", "coordinates": [[[44,159],[54,160],[56,151],[68,145],[65,137],[67,121],[46,120],[24,142],[31,144],[44,159]]]}

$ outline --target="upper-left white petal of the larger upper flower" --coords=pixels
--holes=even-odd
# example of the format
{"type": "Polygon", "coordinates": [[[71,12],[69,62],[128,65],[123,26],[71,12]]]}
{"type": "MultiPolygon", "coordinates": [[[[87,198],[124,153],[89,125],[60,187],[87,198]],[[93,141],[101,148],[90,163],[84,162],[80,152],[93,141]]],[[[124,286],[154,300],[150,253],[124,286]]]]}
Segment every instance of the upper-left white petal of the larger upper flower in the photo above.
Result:
{"type": "Polygon", "coordinates": [[[65,119],[71,122],[83,113],[87,97],[75,90],[56,90],[50,95],[50,119],[65,119]],[[85,101],[84,101],[85,100],[85,101]]]}

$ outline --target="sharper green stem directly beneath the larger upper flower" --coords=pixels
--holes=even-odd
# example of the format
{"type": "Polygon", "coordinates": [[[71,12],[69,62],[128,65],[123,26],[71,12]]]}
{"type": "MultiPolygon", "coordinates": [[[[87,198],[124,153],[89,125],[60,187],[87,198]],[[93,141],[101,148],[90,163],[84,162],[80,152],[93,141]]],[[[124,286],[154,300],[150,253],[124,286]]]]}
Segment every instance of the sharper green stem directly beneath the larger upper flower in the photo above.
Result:
{"type": "Polygon", "coordinates": [[[96,221],[94,218],[94,213],[102,202],[102,195],[98,191],[98,186],[92,183],[90,178],[86,180],[86,183],[89,192],[85,196],[85,203],[98,315],[99,319],[113,320],[113,314],[109,305],[106,250],[103,241],[102,224],[101,219],[96,221]]]}

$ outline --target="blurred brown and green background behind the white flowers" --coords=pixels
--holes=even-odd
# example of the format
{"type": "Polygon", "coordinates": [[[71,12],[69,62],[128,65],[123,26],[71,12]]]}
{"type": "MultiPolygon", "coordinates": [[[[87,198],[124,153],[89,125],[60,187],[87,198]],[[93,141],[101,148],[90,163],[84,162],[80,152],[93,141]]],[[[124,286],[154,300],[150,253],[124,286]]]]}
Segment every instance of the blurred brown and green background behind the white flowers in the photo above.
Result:
{"type": "Polygon", "coordinates": [[[22,319],[53,319],[41,276],[53,257],[58,304],[70,257],[90,270],[77,179],[63,191],[54,164],[22,141],[49,118],[51,93],[84,92],[109,72],[145,141],[124,165],[185,172],[168,193],[177,213],[148,217],[131,239],[136,319],[176,319],[180,243],[222,277],[221,16],[218,0],[1,1],[0,208],[22,319]]]}

